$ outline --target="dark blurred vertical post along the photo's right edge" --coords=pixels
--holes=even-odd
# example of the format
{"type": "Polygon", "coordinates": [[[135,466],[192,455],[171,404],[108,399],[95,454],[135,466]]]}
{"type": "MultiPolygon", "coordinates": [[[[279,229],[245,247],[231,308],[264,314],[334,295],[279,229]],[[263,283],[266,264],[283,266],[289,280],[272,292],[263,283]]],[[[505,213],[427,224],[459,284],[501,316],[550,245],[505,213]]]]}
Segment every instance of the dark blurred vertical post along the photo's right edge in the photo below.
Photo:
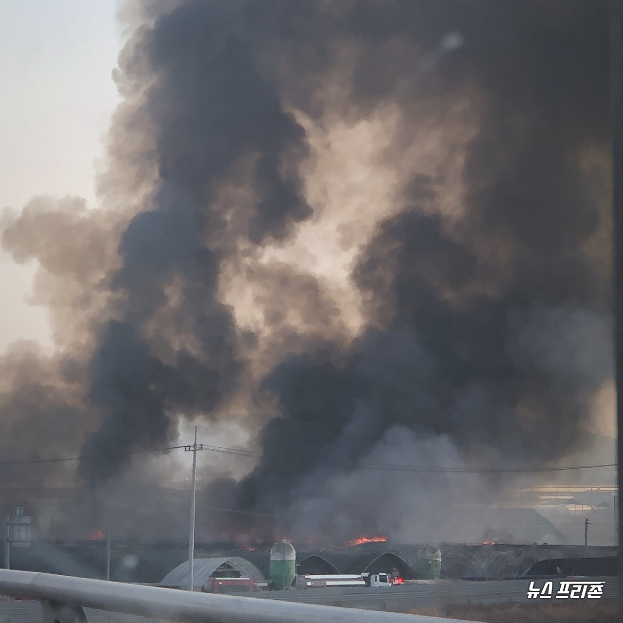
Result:
{"type": "MultiPolygon", "coordinates": [[[[623,0],[610,0],[610,7],[614,363],[617,388],[617,482],[620,490],[623,482],[623,0]]],[[[623,523],[619,513],[619,578],[623,578],[622,546],[623,523]]],[[[619,603],[623,604],[623,582],[619,582],[619,603]]]]}

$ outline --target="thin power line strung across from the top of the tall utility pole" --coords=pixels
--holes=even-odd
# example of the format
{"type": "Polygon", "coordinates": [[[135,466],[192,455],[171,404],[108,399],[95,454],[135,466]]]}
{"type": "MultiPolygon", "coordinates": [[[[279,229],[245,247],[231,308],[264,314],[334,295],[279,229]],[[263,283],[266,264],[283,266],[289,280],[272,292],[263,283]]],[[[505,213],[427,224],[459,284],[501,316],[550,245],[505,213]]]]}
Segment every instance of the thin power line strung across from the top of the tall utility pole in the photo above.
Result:
{"type": "MultiPolygon", "coordinates": [[[[148,454],[151,452],[168,452],[169,450],[178,450],[185,448],[185,445],[169,445],[161,448],[150,448],[143,450],[133,450],[128,454],[148,454]]],[[[211,452],[219,452],[221,454],[233,454],[242,457],[250,457],[253,459],[260,459],[262,455],[244,448],[230,448],[221,445],[206,445],[203,444],[204,450],[211,452]]],[[[64,463],[80,460],[95,459],[95,455],[82,455],[78,457],[66,457],[58,459],[24,459],[24,460],[4,460],[0,461],[0,466],[13,466],[13,465],[41,465],[50,463],[64,463]]],[[[568,465],[565,467],[517,467],[517,468],[482,468],[482,469],[470,469],[464,467],[417,467],[417,465],[357,465],[359,469],[365,470],[378,470],[383,472],[410,472],[410,473],[548,473],[548,472],[566,472],[570,470],[581,469],[597,469],[604,467],[617,467],[616,463],[606,463],[600,465],[568,465]]]]}

